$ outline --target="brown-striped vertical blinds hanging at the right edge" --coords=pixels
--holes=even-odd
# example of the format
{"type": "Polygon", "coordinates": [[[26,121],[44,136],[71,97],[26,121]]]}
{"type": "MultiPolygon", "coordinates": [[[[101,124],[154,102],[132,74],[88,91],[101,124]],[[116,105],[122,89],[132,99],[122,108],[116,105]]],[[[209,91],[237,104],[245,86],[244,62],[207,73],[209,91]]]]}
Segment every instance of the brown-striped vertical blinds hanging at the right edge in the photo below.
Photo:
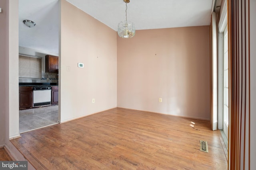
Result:
{"type": "MultiPolygon", "coordinates": [[[[255,129],[250,129],[250,124],[255,123],[250,119],[250,2],[255,0],[228,0],[228,44],[229,44],[229,71],[230,71],[230,139],[229,162],[230,170],[255,170],[250,166],[255,162],[255,157],[250,157],[250,135],[255,134],[255,129]]],[[[255,10],[255,7],[253,7],[255,10]]],[[[252,112],[252,115],[255,114],[252,112]]]]}

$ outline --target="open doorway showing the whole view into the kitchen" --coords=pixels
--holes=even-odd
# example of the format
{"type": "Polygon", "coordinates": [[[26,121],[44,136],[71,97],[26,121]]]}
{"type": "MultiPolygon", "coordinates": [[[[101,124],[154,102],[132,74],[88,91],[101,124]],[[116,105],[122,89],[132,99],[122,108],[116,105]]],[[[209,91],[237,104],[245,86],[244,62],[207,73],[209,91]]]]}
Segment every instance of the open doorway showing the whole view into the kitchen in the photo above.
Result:
{"type": "Polygon", "coordinates": [[[19,133],[59,122],[58,11],[58,0],[19,0],[19,133]]]}

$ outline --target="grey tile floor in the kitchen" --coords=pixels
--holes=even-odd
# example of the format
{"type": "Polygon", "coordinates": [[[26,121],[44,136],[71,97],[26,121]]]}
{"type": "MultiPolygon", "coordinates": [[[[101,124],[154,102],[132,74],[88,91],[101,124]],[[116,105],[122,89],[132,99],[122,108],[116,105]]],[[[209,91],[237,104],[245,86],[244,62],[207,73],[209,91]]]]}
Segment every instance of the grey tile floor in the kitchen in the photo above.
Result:
{"type": "Polygon", "coordinates": [[[58,123],[58,105],[20,110],[20,133],[58,123]]]}

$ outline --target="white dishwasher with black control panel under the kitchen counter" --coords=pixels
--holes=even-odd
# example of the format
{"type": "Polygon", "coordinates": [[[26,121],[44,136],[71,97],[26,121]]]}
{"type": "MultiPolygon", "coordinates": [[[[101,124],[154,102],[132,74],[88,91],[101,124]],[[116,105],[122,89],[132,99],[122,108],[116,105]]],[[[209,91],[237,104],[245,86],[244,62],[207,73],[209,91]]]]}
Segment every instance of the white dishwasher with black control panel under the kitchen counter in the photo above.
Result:
{"type": "Polygon", "coordinates": [[[52,88],[50,86],[33,87],[33,107],[51,105],[52,88]]]}

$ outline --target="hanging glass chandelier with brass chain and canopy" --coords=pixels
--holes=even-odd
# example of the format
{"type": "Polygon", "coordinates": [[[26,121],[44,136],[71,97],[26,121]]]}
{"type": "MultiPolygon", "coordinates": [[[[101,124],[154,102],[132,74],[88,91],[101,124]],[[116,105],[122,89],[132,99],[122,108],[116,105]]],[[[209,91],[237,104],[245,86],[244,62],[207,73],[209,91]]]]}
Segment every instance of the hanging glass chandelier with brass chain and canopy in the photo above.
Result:
{"type": "Polygon", "coordinates": [[[118,32],[119,37],[132,38],[135,35],[135,25],[133,22],[127,21],[127,3],[129,3],[130,0],[124,0],[124,2],[126,4],[126,10],[125,10],[126,20],[121,21],[118,24],[117,32],[118,32]]]}

